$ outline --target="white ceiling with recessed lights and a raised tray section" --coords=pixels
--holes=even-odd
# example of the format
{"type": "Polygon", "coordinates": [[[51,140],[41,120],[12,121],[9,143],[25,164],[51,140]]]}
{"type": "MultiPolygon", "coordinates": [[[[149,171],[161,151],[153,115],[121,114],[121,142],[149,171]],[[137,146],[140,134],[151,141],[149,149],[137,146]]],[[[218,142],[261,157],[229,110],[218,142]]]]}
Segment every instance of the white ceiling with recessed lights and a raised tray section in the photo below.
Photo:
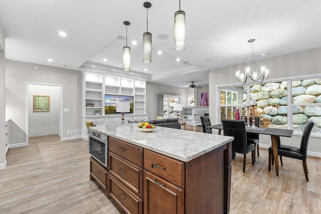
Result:
{"type": "Polygon", "coordinates": [[[126,40],[119,38],[126,37],[123,22],[129,21],[131,71],[143,73],[155,83],[186,87],[191,81],[208,84],[211,69],[251,60],[247,41],[252,38],[256,39],[256,54],[270,52],[257,60],[321,48],[319,0],[182,0],[187,31],[183,52],[174,50],[174,14],[179,1],[151,0],[148,31],[152,33],[152,62],[142,63],[144,2],[1,0],[6,58],[77,70],[83,65],[121,71],[126,40]],[[60,37],[60,31],[67,36],[60,37]],[[158,39],[161,34],[169,38],[158,39]],[[131,44],[133,40],[137,45],[131,44]],[[163,54],[158,55],[158,50],[163,54]],[[53,62],[48,62],[49,58],[53,62]]]}

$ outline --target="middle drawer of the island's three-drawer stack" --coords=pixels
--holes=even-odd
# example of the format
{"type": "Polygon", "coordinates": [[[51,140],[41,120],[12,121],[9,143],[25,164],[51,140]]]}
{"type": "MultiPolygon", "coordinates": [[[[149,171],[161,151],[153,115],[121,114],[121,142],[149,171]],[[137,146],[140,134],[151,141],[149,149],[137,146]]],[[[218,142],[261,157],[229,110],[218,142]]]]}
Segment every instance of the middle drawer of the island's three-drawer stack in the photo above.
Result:
{"type": "Polygon", "coordinates": [[[109,152],[109,173],[142,198],[142,168],[109,152]]]}

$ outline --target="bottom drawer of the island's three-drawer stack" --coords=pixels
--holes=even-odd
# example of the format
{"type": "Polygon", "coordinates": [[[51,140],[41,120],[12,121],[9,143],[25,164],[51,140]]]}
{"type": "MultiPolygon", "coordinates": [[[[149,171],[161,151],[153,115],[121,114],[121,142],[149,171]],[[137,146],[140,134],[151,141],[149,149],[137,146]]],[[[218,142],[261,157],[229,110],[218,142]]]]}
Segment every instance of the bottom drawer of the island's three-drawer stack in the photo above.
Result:
{"type": "Polygon", "coordinates": [[[142,199],[109,173],[108,193],[126,213],[142,213],[142,199]]]}

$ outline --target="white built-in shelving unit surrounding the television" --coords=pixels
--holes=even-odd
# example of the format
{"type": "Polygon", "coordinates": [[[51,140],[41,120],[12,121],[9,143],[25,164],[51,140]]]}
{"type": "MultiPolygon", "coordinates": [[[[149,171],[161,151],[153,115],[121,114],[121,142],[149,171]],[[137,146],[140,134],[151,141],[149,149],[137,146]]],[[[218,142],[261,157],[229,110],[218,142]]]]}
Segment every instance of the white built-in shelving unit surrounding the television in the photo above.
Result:
{"type": "Polygon", "coordinates": [[[133,96],[134,112],[125,114],[124,123],[128,120],[148,120],[146,114],[146,82],[102,73],[83,72],[83,135],[87,135],[85,120],[94,125],[120,124],[120,114],[105,114],[105,95],[133,96]],[[99,114],[94,113],[100,110],[99,114]]]}

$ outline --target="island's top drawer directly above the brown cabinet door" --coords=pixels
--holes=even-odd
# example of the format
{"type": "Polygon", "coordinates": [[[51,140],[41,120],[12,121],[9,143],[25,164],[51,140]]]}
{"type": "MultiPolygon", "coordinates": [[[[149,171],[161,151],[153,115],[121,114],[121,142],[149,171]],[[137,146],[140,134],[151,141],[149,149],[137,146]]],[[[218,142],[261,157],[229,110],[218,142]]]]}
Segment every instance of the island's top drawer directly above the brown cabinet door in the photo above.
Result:
{"type": "Polygon", "coordinates": [[[185,163],[144,149],[144,169],[185,188],[185,163]]]}

